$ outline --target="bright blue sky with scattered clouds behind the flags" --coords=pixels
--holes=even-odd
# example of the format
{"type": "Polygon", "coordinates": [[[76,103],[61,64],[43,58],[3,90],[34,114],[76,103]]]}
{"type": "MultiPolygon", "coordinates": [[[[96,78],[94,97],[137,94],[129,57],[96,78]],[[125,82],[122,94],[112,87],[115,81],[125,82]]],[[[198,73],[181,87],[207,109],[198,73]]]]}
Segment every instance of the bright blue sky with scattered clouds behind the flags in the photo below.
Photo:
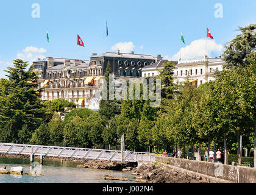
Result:
{"type": "Polygon", "coordinates": [[[212,42],[208,40],[208,54],[215,57],[239,33],[238,26],[256,22],[255,7],[255,0],[1,0],[0,77],[17,57],[30,61],[48,56],[90,59],[93,52],[113,52],[119,47],[123,52],[175,59],[181,47],[181,30],[186,43],[182,47],[187,46],[182,58],[200,57],[206,26],[214,37],[212,42]],[[31,15],[34,3],[40,5],[40,18],[31,15]],[[223,18],[215,17],[216,3],[223,5],[223,18]],[[77,34],[85,48],[77,46],[77,34]]]}

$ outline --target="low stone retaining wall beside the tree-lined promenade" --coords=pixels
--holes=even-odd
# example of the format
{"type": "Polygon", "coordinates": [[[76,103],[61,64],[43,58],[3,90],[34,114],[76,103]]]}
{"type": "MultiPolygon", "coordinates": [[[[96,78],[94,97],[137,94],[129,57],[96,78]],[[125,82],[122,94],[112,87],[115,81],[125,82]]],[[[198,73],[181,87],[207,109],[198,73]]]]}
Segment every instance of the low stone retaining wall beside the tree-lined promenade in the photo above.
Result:
{"type": "Polygon", "coordinates": [[[206,161],[187,160],[183,158],[155,157],[155,161],[167,163],[189,171],[223,180],[239,183],[256,183],[256,169],[245,166],[224,165],[206,161]]]}

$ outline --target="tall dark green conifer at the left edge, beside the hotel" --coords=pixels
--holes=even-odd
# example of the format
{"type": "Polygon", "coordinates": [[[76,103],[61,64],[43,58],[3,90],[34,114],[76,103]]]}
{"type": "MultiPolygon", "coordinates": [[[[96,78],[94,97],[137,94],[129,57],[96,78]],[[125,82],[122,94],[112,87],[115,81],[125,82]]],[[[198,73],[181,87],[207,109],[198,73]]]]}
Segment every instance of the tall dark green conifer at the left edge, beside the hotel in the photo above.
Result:
{"type": "Polygon", "coordinates": [[[7,78],[0,82],[0,127],[9,126],[12,140],[19,140],[18,132],[24,125],[34,131],[43,118],[41,102],[38,98],[37,75],[27,71],[27,62],[17,59],[14,67],[7,67],[7,78]]]}

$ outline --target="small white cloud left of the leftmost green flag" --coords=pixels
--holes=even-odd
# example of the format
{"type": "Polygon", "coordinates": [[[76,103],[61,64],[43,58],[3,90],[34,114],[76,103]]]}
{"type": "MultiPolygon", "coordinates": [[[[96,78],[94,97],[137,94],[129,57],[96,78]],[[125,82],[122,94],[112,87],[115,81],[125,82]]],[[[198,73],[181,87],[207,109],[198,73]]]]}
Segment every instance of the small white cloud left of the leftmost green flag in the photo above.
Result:
{"type": "Polygon", "coordinates": [[[46,53],[46,52],[47,51],[44,48],[36,48],[33,46],[29,46],[23,49],[23,52],[18,53],[16,57],[17,59],[28,61],[29,64],[31,65],[32,62],[37,59],[44,59],[45,56],[43,55],[43,53],[46,53]]]}

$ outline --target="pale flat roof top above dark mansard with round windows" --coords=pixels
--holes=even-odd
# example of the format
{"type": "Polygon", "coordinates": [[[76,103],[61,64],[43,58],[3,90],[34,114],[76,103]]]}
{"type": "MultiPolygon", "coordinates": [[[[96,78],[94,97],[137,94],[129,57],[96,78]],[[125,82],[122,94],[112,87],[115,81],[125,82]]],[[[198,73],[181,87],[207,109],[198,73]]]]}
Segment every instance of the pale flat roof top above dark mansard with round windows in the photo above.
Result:
{"type": "Polygon", "coordinates": [[[120,53],[116,54],[115,52],[106,52],[105,54],[100,55],[92,55],[91,58],[94,57],[123,57],[123,58],[130,58],[130,59],[145,59],[145,60],[155,60],[155,58],[152,55],[145,55],[145,54],[127,54],[127,53],[120,53]]]}

